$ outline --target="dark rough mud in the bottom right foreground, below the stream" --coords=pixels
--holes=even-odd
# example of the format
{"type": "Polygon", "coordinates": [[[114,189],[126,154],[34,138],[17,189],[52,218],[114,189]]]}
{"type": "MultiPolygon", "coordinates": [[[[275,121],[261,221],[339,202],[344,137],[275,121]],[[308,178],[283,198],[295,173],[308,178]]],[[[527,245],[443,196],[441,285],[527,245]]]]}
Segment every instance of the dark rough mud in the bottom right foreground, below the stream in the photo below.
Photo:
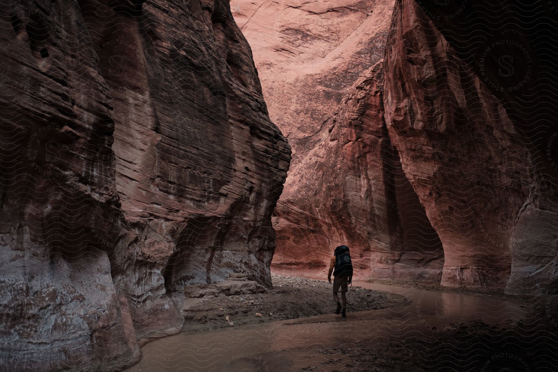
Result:
{"type": "MultiPolygon", "coordinates": [[[[307,355],[309,361],[312,352],[307,355]]],[[[542,325],[519,323],[498,328],[478,321],[439,333],[422,332],[334,346],[321,354],[325,361],[316,357],[314,363],[300,370],[329,371],[328,366],[334,366],[334,372],[555,372],[558,333],[542,325]]],[[[263,360],[273,365],[277,358],[266,355],[263,360]]]]}

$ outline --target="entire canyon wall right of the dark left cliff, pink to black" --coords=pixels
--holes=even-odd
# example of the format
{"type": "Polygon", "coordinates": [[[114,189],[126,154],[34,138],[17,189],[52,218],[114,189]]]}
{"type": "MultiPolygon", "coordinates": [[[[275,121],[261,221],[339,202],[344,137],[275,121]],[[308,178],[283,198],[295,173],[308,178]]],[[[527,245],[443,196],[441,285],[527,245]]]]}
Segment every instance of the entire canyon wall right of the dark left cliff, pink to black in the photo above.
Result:
{"type": "Polygon", "coordinates": [[[554,291],[558,53],[547,45],[558,12],[392,6],[232,2],[294,150],[273,270],[321,276],[343,243],[365,278],[554,291]]]}

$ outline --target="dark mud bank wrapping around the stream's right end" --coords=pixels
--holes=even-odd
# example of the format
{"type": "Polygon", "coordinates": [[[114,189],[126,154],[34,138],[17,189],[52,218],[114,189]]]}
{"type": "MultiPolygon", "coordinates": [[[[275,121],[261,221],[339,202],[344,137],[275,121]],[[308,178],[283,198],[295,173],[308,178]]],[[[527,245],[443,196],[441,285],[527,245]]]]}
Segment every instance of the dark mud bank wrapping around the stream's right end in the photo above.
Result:
{"type": "MultiPolygon", "coordinates": [[[[401,282],[382,281],[385,284],[401,282]]],[[[407,288],[440,291],[440,286],[406,283],[407,288]]],[[[474,291],[441,287],[445,292],[474,291]]],[[[487,291],[480,291],[484,294],[487,291]]],[[[488,291],[491,294],[497,291],[488,291]]],[[[504,296],[503,293],[499,293],[504,296]]],[[[293,365],[292,371],[331,372],[532,372],[558,371],[558,296],[513,297],[528,309],[524,320],[508,321],[498,327],[481,319],[421,332],[403,332],[388,337],[339,342],[323,349],[297,350],[305,366],[293,365]]],[[[280,352],[261,355],[262,365],[285,364],[296,355],[280,352]]],[[[265,369],[261,369],[264,371],[265,369]]]]}

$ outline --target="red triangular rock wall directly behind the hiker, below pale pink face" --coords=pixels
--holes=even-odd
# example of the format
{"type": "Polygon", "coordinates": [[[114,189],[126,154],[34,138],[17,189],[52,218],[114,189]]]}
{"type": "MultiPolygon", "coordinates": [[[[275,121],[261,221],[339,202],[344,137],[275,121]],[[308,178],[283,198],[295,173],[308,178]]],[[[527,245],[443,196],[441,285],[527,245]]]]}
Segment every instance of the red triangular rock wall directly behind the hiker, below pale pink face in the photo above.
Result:
{"type": "Polygon", "coordinates": [[[323,275],[333,248],[348,244],[355,277],[440,280],[441,243],[389,140],[382,85],[380,61],[289,171],[273,217],[276,272],[323,275]]]}

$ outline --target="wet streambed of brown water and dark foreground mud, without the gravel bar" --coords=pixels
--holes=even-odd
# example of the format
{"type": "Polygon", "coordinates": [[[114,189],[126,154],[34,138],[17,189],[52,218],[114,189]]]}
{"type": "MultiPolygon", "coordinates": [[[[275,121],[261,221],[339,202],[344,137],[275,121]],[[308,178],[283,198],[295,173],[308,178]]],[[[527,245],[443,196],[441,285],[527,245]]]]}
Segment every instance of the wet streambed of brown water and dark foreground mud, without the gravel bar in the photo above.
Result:
{"type": "MultiPolygon", "coordinates": [[[[514,372],[556,370],[545,369],[553,366],[552,356],[558,360],[555,329],[549,328],[558,320],[551,297],[525,302],[380,283],[354,285],[408,301],[350,312],[347,318],[326,313],[182,332],[143,346],[142,360],[127,371],[506,371],[511,363],[514,372]]],[[[352,294],[349,288],[348,297],[352,294]]],[[[333,311],[333,299],[328,301],[333,311]]]]}

